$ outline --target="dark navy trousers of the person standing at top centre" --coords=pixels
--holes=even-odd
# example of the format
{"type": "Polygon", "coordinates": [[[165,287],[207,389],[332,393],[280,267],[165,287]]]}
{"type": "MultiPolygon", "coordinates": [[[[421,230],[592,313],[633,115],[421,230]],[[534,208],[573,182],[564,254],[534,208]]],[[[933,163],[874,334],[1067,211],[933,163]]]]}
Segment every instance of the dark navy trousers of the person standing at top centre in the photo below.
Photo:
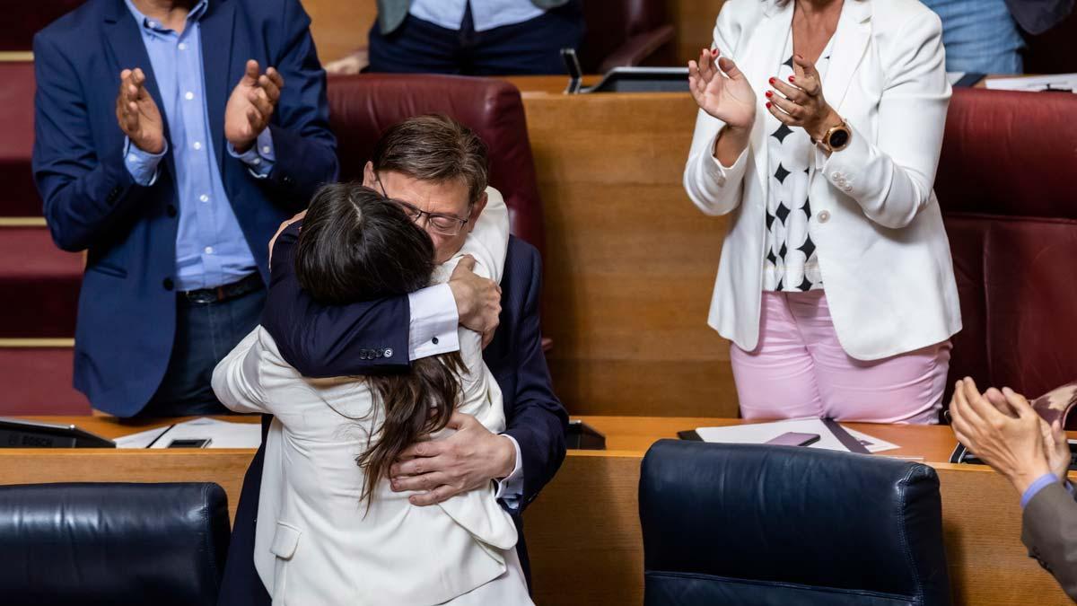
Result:
{"type": "Polygon", "coordinates": [[[372,72],[523,75],[565,73],[561,49],[579,49],[584,15],[573,1],[523,23],[475,31],[468,4],[460,29],[408,15],[384,36],[370,28],[372,72]]]}

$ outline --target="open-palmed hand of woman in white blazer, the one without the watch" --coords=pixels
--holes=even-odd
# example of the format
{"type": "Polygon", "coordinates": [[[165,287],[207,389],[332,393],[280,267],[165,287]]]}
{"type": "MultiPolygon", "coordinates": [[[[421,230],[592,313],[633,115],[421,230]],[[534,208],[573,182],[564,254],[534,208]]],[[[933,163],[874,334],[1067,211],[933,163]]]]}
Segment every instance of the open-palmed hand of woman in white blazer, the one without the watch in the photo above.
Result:
{"type": "Polygon", "coordinates": [[[703,50],[699,61],[688,61],[688,86],[703,111],[739,129],[751,129],[755,122],[755,92],[747,78],[729,57],[718,50],[703,50]]]}

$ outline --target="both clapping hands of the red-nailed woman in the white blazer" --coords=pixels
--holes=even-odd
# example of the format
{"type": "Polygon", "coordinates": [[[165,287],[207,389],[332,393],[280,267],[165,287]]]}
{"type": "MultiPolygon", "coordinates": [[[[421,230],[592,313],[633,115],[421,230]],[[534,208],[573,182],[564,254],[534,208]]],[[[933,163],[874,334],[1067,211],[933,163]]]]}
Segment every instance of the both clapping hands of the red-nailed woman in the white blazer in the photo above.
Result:
{"type": "MultiPolygon", "coordinates": [[[[765,93],[766,108],[783,124],[805,128],[813,139],[841,120],[823,98],[822,78],[815,65],[800,55],[793,58],[789,82],[771,78],[765,93]]],[[[747,78],[717,49],[703,49],[698,61],[688,61],[688,85],[699,107],[737,130],[751,130],[756,96],[747,78]]]]}

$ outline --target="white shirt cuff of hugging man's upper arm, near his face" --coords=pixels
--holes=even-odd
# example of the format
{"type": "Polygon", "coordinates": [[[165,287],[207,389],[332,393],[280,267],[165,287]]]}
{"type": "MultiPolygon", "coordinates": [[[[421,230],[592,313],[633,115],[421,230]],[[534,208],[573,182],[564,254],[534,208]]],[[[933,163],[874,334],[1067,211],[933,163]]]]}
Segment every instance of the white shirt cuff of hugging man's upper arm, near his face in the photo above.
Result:
{"type": "Polygon", "coordinates": [[[418,360],[460,350],[457,326],[460,315],[452,289],[439,284],[407,295],[411,307],[408,326],[408,359],[418,360]]]}

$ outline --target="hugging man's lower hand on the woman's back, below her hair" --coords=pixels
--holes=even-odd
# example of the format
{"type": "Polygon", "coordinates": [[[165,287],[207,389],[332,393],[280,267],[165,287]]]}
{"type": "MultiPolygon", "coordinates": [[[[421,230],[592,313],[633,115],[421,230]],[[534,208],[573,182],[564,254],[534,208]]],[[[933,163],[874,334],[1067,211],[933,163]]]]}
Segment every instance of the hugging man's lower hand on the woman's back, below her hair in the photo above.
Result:
{"type": "Polygon", "coordinates": [[[516,468],[512,439],[492,433],[474,416],[453,413],[447,427],[457,432],[411,444],[389,470],[393,492],[425,491],[411,495],[411,505],[436,505],[516,468]]]}

